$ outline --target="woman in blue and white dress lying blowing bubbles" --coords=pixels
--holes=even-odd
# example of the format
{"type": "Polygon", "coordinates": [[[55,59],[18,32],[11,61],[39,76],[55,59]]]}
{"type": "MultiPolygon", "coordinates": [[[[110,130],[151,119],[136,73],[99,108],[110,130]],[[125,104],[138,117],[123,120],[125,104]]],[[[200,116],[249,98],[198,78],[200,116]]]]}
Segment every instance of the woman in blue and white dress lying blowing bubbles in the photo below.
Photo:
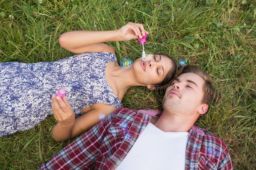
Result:
{"type": "Polygon", "coordinates": [[[102,43],[142,38],[145,33],[143,25],[136,23],[113,31],[66,32],[59,38],[60,45],[75,56],[55,62],[1,63],[0,135],[28,130],[53,112],[58,123],[52,137],[74,138],[122,107],[130,87],[153,90],[154,85],[166,84],[177,68],[171,57],[152,55],[149,62],[139,58],[132,67],[123,68],[117,64],[115,50],[102,43]],[[50,96],[60,88],[67,94],[62,99],[52,95],[51,107],[50,96]]]}

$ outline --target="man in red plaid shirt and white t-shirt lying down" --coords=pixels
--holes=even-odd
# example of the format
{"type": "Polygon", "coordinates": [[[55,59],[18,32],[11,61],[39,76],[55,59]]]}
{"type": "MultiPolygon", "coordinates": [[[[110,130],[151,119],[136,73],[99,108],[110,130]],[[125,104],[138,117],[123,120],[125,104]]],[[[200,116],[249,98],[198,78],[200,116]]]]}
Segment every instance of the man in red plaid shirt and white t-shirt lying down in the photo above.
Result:
{"type": "Polygon", "coordinates": [[[214,100],[206,72],[185,66],[163,112],[119,108],[58,152],[41,169],[233,169],[220,138],[194,125],[214,100]]]}

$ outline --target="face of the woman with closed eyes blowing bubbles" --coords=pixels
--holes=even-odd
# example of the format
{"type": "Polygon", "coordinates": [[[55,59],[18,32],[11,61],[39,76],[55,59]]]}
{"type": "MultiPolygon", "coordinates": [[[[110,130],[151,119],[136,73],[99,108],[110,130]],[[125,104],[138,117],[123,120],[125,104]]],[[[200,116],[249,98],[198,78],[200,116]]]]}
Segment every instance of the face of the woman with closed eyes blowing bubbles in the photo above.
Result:
{"type": "Polygon", "coordinates": [[[135,78],[140,84],[156,84],[162,82],[171,70],[172,61],[170,58],[159,55],[149,54],[150,61],[143,61],[140,57],[133,63],[135,78]]]}

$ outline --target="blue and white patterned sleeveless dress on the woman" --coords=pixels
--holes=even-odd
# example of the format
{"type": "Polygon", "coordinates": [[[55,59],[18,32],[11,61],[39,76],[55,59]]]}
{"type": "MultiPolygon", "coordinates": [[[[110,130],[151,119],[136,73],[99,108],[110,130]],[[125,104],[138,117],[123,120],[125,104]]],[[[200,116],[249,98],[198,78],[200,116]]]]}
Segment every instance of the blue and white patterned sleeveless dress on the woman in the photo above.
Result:
{"type": "Polygon", "coordinates": [[[31,129],[53,114],[51,97],[66,89],[75,112],[96,103],[123,107],[105,76],[113,53],[82,53],[54,62],[0,63],[0,136],[31,129]]]}

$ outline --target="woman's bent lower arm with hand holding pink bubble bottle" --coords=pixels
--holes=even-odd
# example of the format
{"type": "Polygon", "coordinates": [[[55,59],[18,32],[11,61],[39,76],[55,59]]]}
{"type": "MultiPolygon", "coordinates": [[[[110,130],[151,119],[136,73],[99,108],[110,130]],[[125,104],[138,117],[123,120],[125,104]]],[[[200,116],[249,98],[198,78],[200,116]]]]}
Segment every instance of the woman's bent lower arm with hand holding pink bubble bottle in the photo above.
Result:
{"type": "Polygon", "coordinates": [[[89,108],[84,115],[75,118],[75,113],[65,97],[63,100],[60,97],[53,97],[52,110],[58,124],[52,129],[52,138],[56,141],[75,138],[97,124],[100,121],[100,114],[108,116],[116,110],[116,107],[103,103],[92,105],[89,108]]]}

